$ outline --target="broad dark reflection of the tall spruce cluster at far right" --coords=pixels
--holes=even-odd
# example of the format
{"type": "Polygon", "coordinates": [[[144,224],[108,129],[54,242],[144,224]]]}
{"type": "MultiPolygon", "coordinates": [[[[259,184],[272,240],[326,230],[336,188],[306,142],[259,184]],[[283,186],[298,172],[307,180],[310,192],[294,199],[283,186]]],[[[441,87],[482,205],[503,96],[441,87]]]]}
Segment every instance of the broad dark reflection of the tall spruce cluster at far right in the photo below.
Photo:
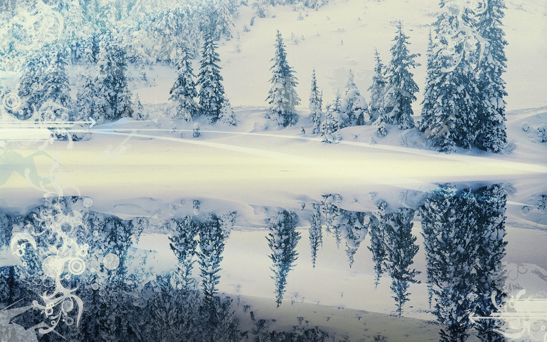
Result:
{"type": "MultiPolygon", "coordinates": [[[[497,291],[505,294],[505,203],[503,186],[478,190],[445,187],[433,194],[421,208],[427,281],[434,298],[434,315],[441,323],[441,341],[464,341],[472,327],[469,314],[488,316],[494,311],[490,299],[497,291]]],[[[491,320],[476,328],[483,341],[503,341],[491,320]]]]}

